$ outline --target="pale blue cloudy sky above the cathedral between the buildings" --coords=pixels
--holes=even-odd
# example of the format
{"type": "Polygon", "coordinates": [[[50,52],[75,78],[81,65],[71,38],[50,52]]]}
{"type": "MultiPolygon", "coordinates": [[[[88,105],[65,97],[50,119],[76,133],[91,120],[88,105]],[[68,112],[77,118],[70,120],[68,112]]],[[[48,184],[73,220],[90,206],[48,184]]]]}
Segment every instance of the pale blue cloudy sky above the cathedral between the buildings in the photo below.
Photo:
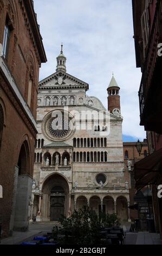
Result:
{"type": "Polygon", "coordinates": [[[140,126],[138,91],[141,70],[136,68],[131,0],[34,0],[48,62],[40,80],[56,71],[56,57],[67,57],[67,72],[89,84],[107,108],[112,74],[120,87],[124,141],[146,137],[140,126]]]}

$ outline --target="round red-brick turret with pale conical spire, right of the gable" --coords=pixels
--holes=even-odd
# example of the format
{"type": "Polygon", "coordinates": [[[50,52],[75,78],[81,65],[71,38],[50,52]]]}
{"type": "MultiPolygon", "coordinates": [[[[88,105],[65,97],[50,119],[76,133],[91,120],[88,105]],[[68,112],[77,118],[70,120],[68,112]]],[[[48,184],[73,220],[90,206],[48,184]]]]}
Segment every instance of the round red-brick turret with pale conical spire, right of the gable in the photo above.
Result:
{"type": "Polygon", "coordinates": [[[108,111],[112,114],[120,115],[120,95],[119,95],[120,87],[118,86],[114,74],[111,82],[107,88],[108,92],[108,111]]]}

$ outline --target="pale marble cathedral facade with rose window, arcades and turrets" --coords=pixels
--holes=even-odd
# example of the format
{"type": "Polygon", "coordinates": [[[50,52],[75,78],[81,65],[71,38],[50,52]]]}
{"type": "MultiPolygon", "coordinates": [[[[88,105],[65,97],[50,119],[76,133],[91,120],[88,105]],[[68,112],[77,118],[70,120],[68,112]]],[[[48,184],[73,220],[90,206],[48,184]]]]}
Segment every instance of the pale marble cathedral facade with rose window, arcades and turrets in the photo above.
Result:
{"type": "Polygon", "coordinates": [[[130,218],[120,88],[113,76],[108,110],[88,89],[67,73],[61,48],[56,72],[39,83],[31,220],[58,221],[83,205],[130,218]]]}

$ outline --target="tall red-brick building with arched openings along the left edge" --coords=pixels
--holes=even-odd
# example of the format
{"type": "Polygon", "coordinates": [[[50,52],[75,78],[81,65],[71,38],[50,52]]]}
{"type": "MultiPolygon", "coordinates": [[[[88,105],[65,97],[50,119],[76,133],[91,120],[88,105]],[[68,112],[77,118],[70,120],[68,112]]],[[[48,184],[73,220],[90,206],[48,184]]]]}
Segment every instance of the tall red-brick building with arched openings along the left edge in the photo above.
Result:
{"type": "Polygon", "coordinates": [[[0,222],[2,235],[27,230],[38,75],[46,62],[31,0],[0,0],[0,222]]]}

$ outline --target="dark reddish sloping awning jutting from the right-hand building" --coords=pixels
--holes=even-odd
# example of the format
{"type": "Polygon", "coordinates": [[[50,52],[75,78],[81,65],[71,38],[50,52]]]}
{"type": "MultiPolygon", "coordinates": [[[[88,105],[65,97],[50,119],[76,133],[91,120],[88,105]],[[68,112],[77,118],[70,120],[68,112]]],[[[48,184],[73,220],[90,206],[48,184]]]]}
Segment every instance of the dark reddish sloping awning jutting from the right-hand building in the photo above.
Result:
{"type": "Polygon", "coordinates": [[[162,148],[134,164],[136,188],[162,182],[162,148]]]}

